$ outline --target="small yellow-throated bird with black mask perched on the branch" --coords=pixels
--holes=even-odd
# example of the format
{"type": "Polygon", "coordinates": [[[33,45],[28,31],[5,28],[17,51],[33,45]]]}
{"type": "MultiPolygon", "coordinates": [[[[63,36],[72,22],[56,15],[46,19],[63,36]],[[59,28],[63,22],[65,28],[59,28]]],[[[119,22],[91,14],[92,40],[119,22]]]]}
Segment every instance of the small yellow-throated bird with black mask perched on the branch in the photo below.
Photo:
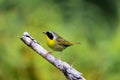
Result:
{"type": "Polygon", "coordinates": [[[61,36],[59,36],[55,32],[47,31],[43,32],[47,39],[47,45],[53,50],[53,51],[59,51],[62,52],[65,48],[74,45],[79,44],[79,42],[72,43],[65,39],[63,39],[61,36]]]}

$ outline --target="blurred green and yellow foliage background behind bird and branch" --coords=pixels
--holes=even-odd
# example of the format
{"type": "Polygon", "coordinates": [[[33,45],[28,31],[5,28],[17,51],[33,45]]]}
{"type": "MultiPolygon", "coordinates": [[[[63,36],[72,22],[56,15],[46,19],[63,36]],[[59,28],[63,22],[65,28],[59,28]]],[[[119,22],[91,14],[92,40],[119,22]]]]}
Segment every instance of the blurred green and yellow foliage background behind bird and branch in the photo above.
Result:
{"type": "Polygon", "coordinates": [[[63,61],[87,80],[120,80],[120,0],[0,0],[0,80],[66,80],[21,42],[25,31],[47,50],[43,31],[80,42],[63,61]]]}

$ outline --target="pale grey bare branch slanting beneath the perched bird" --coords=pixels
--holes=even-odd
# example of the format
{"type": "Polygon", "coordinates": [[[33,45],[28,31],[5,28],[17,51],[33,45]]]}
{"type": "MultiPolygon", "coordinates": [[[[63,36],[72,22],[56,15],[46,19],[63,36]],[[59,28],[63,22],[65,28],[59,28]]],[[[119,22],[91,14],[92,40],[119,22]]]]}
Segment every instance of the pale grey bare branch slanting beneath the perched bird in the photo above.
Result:
{"type": "Polygon", "coordinates": [[[45,50],[35,39],[33,39],[28,32],[23,33],[21,40],[27,46],[36,51],[40,56],[62,71],[68,80],[85,80],[85,78],[82,76],[82,73],[78,72],[66,62],[55,58],[52,54],[48,54],[48,51],[45,50]]]}

